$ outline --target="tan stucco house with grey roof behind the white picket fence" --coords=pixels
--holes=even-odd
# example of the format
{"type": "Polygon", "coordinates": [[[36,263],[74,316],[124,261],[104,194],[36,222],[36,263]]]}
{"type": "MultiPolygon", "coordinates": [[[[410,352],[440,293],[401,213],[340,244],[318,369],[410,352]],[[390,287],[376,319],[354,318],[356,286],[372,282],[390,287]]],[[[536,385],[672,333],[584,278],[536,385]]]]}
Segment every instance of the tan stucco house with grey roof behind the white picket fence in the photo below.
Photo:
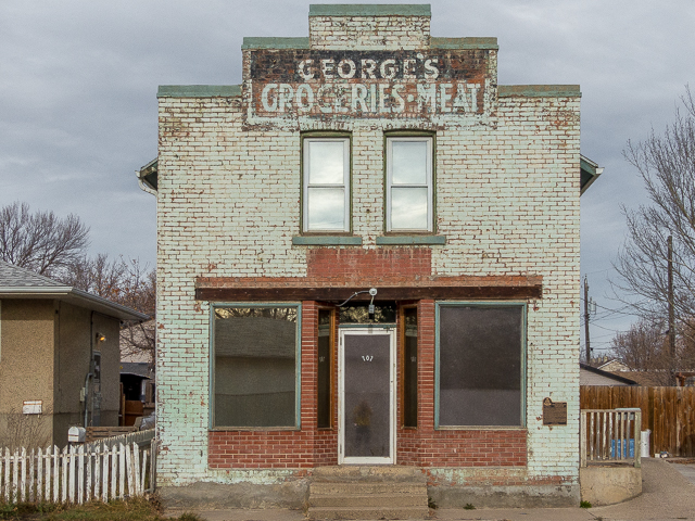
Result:
{"type": "Polygon", "coordinates": [[[0,436],[40,422],[63,447],[72,425],[117,425],[121,321],[147,318],[0,260],[0,436]]]}

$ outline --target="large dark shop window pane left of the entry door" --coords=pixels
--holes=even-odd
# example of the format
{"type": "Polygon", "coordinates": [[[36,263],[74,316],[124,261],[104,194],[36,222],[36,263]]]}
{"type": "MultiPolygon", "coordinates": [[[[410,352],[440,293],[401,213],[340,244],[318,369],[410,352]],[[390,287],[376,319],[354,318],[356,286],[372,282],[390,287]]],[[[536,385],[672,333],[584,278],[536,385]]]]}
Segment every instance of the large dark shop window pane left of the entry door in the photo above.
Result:
{"type": "Polygon", "coordinates": [[[298,427],[299,306],[214,307],[214,428],[298,427]]]}

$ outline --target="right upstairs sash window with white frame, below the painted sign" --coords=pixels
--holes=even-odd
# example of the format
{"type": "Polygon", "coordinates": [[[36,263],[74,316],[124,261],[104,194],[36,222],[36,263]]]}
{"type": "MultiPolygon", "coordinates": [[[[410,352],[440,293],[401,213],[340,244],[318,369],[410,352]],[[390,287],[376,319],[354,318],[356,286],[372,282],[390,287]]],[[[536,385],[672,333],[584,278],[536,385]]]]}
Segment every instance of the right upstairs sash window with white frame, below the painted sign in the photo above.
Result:
{"type": "Polygon", "coordinates": [[[387,231],[432,231],[432,138],[387,138],[387,231]]]}

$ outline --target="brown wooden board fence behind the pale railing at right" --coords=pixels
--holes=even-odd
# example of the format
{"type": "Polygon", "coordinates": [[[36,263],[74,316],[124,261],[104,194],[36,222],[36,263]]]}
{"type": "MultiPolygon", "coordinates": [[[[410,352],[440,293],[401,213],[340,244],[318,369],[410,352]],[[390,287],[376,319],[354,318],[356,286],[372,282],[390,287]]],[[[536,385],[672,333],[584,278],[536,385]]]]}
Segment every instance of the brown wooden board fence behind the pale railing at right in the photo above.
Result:
{"type": "Polygon", "coordinates": [[[652,431],[649,454],[695,457],[695,387],[582,385],[582,409],[642,409],[642,430],[652,431]]]}

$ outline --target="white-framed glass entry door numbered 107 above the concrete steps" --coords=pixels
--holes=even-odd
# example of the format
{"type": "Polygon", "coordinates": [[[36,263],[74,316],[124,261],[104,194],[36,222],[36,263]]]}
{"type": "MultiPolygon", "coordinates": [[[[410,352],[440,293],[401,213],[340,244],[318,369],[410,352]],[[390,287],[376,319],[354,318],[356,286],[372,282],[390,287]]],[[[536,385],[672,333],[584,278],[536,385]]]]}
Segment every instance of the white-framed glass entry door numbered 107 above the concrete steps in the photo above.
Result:
{"type": "Polygon", "coordinates": [[[395,332],[340,332],[339,463],[393,463],[395,453],[395,332]]]}

